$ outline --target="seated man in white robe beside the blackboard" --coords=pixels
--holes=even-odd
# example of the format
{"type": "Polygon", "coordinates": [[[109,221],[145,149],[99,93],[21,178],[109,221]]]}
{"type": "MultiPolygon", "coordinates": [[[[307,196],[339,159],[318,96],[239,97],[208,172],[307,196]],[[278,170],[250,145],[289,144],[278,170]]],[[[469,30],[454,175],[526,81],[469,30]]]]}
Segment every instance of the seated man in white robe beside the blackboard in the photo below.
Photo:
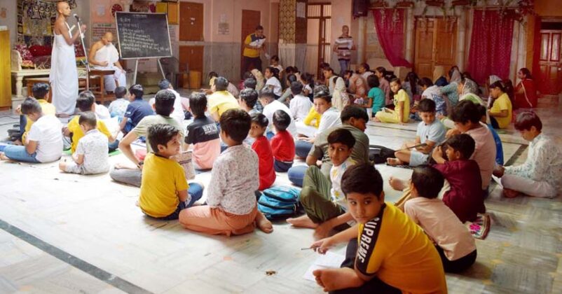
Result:
{"type": "Polygon", "coordinates": [[[117,52],[113,41],[114,34],[108,31],[102,36],[100,41],[92,45],[90,55],[88,55],[88,61],[95,69],[115,71],[112,75],[104,76],[104,85],[107,92],[114,92],[118,85],[127,87],[125,70],[123,70],[123,66],[119,63],[119,52],[117,52]]]}

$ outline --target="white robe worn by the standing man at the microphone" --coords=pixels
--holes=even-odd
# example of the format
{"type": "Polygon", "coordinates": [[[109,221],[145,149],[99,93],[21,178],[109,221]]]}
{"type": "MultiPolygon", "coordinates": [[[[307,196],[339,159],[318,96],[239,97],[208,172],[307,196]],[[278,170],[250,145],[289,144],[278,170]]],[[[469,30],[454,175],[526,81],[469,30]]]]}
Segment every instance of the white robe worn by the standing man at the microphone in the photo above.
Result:
{"type": "Polygon", "coordinates": [[[53,105],[57,113],[74,114],[78,97],[76,55],[74,44],[68,45],[62,35],[55,34],[50,57],[49,81],[53,91],[53,105]]]}

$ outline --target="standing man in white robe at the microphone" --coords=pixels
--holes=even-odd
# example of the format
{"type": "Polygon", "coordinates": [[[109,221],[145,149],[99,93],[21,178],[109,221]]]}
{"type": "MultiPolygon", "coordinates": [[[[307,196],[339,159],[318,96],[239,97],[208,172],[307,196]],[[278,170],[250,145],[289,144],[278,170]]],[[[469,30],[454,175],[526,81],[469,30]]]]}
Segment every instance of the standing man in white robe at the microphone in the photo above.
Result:
{"type": "MultiPolygon", "coordinates": [[[[80,36],[76,29],[71,35],[67,18],[70,16],[70,6],[65,1],[57,3],[57,20],[55,21],[55,40],[51,52],[51,66],[49,81],[53,89],[53,105],[57,115],[70,116],[76,108],[78,97],[78,69],[76,69],[76,55],[74,42],[80,36]]],[[[81,25],[82,32],[86,26],[81,25]]]]}

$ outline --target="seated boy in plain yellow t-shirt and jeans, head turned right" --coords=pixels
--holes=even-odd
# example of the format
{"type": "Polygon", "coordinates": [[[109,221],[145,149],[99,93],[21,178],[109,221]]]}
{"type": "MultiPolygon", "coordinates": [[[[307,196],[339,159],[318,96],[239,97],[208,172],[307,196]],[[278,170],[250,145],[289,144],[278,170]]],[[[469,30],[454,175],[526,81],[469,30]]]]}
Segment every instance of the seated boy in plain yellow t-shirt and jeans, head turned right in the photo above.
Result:
{"type": "Polygon", "coordinates": [[[203,186],[188,185],[184,169],[170,159],[181,151],[181,135],[173,125],[155,124],[148,130],[152,152],[144,158],[139,207],[147,216],[175,220],[182,209],[203,196],[203,186]]]}

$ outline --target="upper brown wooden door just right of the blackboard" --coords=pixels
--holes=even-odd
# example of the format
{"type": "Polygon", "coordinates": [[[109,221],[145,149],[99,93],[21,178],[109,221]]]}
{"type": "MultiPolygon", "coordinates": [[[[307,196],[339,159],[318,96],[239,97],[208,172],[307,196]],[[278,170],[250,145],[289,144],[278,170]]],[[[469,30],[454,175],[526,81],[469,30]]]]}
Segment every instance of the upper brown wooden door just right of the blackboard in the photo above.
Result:
{"type": "Polygon", "coordinates": [[[179,3],[179,41],[204,41],[202,3],[179,3]]]}

